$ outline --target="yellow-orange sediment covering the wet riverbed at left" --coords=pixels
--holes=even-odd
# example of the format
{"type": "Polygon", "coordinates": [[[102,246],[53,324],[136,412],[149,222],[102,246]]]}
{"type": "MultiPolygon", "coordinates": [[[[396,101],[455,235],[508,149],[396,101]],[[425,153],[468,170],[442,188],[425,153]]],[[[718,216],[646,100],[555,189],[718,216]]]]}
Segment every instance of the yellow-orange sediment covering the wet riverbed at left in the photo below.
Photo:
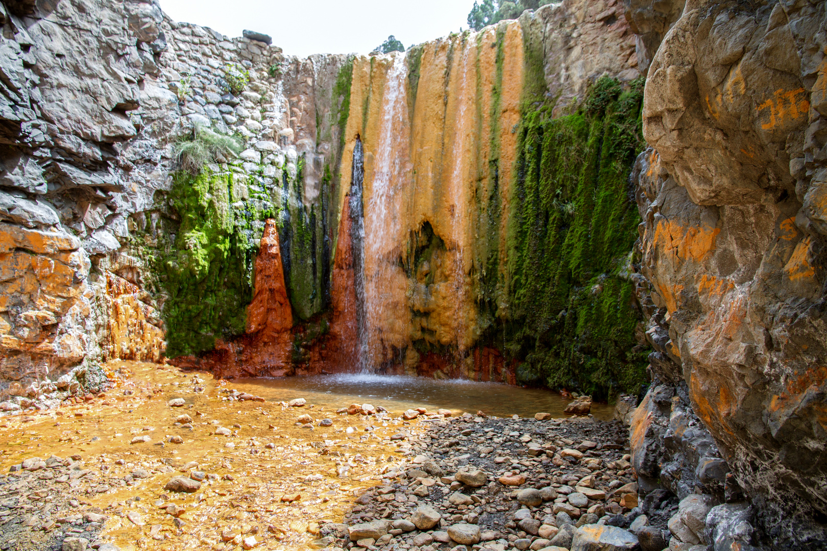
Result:
{"type": "MultiPolygon", "coordinates": [[[[109,516],[103,534],[123,551],[241,549],[241,539],[250,536],[263,549],[304,549],[319,537],[320,520],[341,522],[356,496],[401,459],[390,440],[402,427],[399,420],[341,416],[309,403],[231,401],[222,390],[232,382],[154,363],[116,361],[107,367],[120,374],[120,382],[106,397],[0,419],[0,467],[8,472],[26,458],[79,455],[90,473],[54,487],[80,505],[51,515],[99,508],[109,516]],[[168,406],[178,397],[184,406],[168,406]],[[184,414],[192,419],[191,429],[186,420],[176,425],[184,414]],[[313,430],[296,425],[303,414],[315,420],[313,430]],[[324,418],[333,425],[318,426],[324,418]],[[368,426],[374,429],[366,431],[368,426]],[[215,434],[220,427],[230,435],[215,434]],[[138,436],[149,440],[131,444],[138,436]],[[183,443],[170,443],[173,436],[183,443]],[[139,469],[147,476],[130,480],[139,469]],[[208,476],[197,492],[164,490],[171,477],[193,470],[208,476]],[[184,513],[168,514],[169,505],[184,513]]],[[[409,430],[418,431],[412,423],[409,430]]],[[[37,501],[32,505],[42,509],[37,501]]]]}

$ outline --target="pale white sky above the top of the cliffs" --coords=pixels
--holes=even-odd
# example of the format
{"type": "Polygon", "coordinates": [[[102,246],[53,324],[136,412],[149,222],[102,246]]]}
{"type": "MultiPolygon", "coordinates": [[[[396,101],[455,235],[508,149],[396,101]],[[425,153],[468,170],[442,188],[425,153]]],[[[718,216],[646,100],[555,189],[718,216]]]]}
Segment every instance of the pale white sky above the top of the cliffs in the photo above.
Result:
{"type": "Polygon", "coordinates": [[[174,21],[230,37],[264,32],[287,55],[367,54],[388,35],[405,48],[468,28],[474,0],[160,0],[174,21]]]}

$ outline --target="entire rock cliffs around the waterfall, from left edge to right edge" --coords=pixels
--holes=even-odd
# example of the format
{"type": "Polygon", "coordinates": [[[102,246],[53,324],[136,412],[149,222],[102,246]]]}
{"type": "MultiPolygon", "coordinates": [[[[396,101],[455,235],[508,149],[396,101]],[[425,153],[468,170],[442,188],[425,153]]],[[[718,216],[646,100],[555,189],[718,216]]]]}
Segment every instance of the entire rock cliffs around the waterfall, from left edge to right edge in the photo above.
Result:
{"type": "Polygon", "coordinates": [[[648,379],[641,491],[746,493],[818,549],[825,17],[567,0],[296,59],[152,2],[3,2],[2,385],[165,356],[648,379]]]}

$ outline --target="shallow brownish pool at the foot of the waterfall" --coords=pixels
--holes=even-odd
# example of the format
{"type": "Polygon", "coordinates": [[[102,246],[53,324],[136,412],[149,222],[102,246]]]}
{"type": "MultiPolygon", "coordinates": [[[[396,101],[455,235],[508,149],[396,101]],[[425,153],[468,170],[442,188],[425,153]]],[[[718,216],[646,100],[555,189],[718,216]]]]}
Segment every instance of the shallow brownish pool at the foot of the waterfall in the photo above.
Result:
{"type": "MultiPolygon", "coordinates": [[[[489,416],[533,416],[538,411],[564,417],[571,402],[557,392],[538,388],[521,388],[498,382],[475,382],[463,379],[437,381],[423,377],[399,375],[346,374],[278,379],[236,379],[227,387],[264,397],[267,401],[290,401],[304,398],[308,404],[326,409],[347,407],[351,403],[370,403],[399,414],[412,407],[439,408],[454,413],[484,411],[489,416]]],[[[591,413],[597,419],[610,420],[613,407],[594,403],[591,413]]]]}

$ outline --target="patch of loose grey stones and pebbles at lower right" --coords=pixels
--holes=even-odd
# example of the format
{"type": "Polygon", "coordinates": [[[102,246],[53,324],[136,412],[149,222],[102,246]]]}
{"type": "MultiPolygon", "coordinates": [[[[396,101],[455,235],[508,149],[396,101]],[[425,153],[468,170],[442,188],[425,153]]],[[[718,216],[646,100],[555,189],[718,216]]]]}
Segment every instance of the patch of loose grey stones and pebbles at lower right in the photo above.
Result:
{"type": "Polygon", "coordinates": [[[433,420],[406,468],[322,534],[356,550],[666,548],[677,500],[638,504],[624,426],[545,417],[433,420]]]}

